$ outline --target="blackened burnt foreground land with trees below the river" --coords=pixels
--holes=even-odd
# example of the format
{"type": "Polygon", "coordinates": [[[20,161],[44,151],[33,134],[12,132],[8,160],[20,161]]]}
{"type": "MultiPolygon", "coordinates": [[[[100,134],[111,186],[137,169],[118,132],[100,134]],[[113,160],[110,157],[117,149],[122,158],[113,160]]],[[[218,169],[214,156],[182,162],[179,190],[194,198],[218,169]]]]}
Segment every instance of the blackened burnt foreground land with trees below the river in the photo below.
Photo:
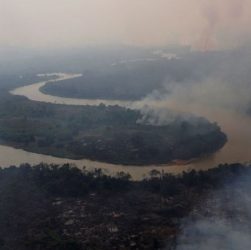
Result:
{"type": "Polygon", "coordinates": [[[1,169],[1,249],[175,249],[181,219],[250,171],[241,164],[179,176],[155,170],[135,182],[67,164],[1,169]]]}

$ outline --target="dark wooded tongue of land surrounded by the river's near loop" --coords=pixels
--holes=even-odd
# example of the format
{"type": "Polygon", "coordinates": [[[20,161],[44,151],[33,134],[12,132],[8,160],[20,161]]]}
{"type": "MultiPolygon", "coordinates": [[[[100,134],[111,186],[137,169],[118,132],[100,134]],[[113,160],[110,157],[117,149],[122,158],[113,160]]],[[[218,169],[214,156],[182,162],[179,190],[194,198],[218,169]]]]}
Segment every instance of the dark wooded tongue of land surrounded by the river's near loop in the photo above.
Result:
{"type": "Polygon", "coordinates": [[[62,158],[160,165],[213,154],[227,141],[201,117],[156,125],[118,105],[55,105],[12,95],[0,102],[2,144],[62,158]]]}

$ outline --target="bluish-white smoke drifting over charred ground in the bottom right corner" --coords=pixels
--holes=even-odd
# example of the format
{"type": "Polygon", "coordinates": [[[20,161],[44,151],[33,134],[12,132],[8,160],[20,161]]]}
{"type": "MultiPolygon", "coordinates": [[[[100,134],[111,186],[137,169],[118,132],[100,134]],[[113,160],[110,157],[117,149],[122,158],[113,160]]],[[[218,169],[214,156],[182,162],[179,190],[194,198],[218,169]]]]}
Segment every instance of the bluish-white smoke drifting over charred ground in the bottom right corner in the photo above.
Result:
{"type": "Polygon", "coordinates": [[[184,220],[177,250],[251,249],[251,176],[211,194],[184,220]]]}

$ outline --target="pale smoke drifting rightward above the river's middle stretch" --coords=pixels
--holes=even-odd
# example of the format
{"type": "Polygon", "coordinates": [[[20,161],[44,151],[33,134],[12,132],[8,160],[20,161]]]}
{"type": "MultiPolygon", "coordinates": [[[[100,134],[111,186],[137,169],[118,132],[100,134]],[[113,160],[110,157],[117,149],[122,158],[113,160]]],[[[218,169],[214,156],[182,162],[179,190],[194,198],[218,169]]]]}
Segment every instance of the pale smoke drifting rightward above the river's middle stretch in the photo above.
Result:
{"type": "MultiPolygon", "coordinates": [[[[210,56],[210,55],[209,55],[210,56]]],[[[243,113],[251,107],[251,55],[250,48],[240,51],[215,53],[218,59],[209,73],[203,73],[200,65],[209,68],[207,56],[189,65],[191,74],[182,81],[166,80],[161,90],[154,90],[141,102],[142,107],[148,107],[145,113],[152,109],[170,109],[177,112],[190,112],[207,117],[214,111],[231,111],[243,113]],[[209,111],[209,112],[208,112],[209,111]]],[[[153,111],[151,111],[153,113],[153,111]]],[[[159,111],[158,111],[159,112],[159,111]]],[[[155,111],[156,113],[156,111],[155,111]]],[[[163,112],[159,112],[163,117],[163,112]]],[[[169,113],[170,115],[170,113],[169,113]]],[[[162,119],[162,118],[161,118],[162,119]]]]}

